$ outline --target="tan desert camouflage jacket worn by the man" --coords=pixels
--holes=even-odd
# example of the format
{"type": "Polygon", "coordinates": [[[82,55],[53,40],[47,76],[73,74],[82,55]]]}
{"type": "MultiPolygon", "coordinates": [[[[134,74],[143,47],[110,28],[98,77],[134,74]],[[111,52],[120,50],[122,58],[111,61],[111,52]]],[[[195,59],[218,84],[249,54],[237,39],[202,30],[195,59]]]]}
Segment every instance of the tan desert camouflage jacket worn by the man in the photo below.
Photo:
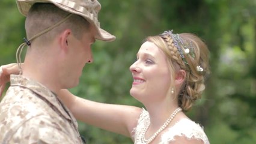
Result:
{"type": "Polygon", "coordinates": [[[38,82],[11,75],[0,103],[0,143],[82,143],[78,123],[55,94],[38,82]]]}

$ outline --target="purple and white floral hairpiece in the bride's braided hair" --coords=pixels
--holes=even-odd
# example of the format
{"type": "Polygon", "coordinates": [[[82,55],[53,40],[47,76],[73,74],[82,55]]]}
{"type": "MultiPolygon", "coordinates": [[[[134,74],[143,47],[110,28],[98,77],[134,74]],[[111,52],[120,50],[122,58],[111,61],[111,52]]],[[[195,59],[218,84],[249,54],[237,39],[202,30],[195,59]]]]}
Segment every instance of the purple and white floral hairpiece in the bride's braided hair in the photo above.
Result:
{"type": "MultiPolygon", "coordinates": [[[[173,34],[172,30],[163,32],[162,34],[160,34],[160,37],[163,37],[163,35],[169,35],[172,38],[173,40],[172,43],[178,49],[178,53],[180,53],[181,59],[186,65],[189,65],[186,61],[184,53],[186,55],[190,55],[193,59],[195,58],[195,52],[194,52],[194,47],[192,45],[192,41],[189,41],[188,43],[184,43],[184,40],[180,37],[180,35],[173,34]]],[[[204,69],[200,65],[198,65],[197,71],[203,72],[204,69]]]]}

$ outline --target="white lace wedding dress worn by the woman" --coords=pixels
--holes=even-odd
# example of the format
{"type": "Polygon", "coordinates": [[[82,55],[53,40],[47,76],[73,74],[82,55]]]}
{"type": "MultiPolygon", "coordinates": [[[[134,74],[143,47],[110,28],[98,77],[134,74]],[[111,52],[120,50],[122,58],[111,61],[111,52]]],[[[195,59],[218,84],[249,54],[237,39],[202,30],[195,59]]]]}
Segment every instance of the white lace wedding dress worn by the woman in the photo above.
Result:
{"type": "MultiPolygon", "coordinates": [[[[136,128],[133,130],[135,144],[143,144],[141,141],[141,134],[144,130],[144,127],[148,125],[150,122],[150,118],[147,110],[142,109],[141,116],[139,116],[138,124],[136,128]]],[[[175,136],[186,136],[187,139],[201,139],[204,144],[210,144],[209,140],[204,133],[203,127],[199,124],[196,124],[194,121],[190,119],[181,119],[174,126],[168,128],[168,130],[162,134],[161,142],[159,144],[169,144],[175,140],[175,136]]]]}

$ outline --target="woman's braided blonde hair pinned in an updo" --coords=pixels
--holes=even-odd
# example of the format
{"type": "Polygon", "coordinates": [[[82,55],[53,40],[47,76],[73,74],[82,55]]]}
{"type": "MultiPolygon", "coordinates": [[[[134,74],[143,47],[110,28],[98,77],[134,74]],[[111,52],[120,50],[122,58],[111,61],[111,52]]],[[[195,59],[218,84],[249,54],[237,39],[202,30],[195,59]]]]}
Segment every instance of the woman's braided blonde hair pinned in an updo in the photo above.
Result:
{"type": "MultiPolygon", "coordinates": [[[[146,38],[146,41],[156,44],[161,49],[169,62],[169,70],[171,72],[171,88],[175,88],[175,74],[182,69],[186,72],[181,88],[175,89],[178,94],[178,106],[183,110],[189,110],[205,89],[204,79],[209,71],[209,50],[206,44],[194,34],[183,33],[179,34],[184,43],[191,43],[194,50],[194,58],[190,55],[184,55],[186,63],[181,58],[180,52],[173,43],[171,35],[157,35],[146,38]],[[200,65],[203,71],[198,71],[197,66],[200,65]],[[177,91],[178,90],[178,91],[177,91]]],[[[184,48],[184,47],[183,47],[184,48]]],[[[169,92],[169,94],[171,94],[169,92]]]]}

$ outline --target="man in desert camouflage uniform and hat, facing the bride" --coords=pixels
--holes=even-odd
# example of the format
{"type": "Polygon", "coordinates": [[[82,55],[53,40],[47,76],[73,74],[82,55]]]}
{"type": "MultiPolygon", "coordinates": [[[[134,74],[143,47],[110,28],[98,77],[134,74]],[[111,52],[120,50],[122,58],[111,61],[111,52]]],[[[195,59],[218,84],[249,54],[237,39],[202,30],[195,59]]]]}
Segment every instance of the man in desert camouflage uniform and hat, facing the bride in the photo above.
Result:
{"type": "Polygon", "coordinates": [[[20,73],[0,103],[0,143],[82,143],[72,113],[56,92],[78,85],[93,62],[95,39],[115,37],[100,28],[96,0],[17,0],[26,16],[25,43],[17,50],[20,73]],[[19,52],[28,51],[20,65],[19,52]]]}

